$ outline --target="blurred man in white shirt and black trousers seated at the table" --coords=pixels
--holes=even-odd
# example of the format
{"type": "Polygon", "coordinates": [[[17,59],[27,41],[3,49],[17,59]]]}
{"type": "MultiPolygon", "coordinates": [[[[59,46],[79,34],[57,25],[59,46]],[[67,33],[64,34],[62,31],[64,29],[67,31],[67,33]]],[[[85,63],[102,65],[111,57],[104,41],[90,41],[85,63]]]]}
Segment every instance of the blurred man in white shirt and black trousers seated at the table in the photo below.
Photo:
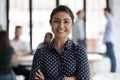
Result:
{"type": "MultiPolygon", "coordinates": [[[[22,34],[22,26],[16,26],[15,28],[15,37],[11,40],[11,45],[15,50],[15,54],[13,55],[13,59],[19,56],[27,56],[30,55],[30,45],[27,42],[20,39],[22,34]]],[[[30,70],[26,69],[23,65],[13,65],[13,70],[16,75],[24,75],[25,80],[29,80],[30,70]]]]}

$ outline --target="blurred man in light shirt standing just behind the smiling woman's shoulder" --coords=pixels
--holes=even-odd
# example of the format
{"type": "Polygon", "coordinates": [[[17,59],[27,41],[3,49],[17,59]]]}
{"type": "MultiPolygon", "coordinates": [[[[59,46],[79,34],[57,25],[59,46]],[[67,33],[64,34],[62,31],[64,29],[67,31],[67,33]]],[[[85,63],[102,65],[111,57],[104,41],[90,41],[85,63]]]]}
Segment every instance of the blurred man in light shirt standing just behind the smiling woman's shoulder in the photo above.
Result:
{"type": "Polygon", "coordinates": [[[79,10],[76,14],[77,19],[72,27],[73,41],[85,48],[84,11],[79,10]]]}

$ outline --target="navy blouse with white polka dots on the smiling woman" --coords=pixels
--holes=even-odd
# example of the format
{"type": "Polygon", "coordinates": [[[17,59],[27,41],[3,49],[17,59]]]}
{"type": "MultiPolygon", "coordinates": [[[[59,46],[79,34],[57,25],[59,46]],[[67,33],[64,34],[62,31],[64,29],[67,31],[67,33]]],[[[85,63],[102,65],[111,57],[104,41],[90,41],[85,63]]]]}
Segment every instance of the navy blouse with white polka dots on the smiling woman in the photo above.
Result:
{"type": "Polygon", "coordinates": [[[40,69],[45,80],[63,80],[64,77],[76,76],[77,80],[90,80],[88,58],[85,49],[68,40],[62,52],[55,49],[54,42],[37,49],[30,73],[30,80],[35,80],[35,73],[40,69]]]}

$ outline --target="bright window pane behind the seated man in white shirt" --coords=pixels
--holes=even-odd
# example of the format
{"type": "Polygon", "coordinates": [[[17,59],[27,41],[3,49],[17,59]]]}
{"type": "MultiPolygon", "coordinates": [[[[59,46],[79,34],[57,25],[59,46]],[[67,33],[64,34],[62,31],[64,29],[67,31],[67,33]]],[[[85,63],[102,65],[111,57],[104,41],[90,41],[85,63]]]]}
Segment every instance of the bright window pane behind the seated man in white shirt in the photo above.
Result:
{"type": "Polygon", "coordinates": [[[21,39],[30,42],[29,28],[29,0],[10,0],[9,12],[9,36],[14,38],[15,26],[23,27],[21,39]]]}

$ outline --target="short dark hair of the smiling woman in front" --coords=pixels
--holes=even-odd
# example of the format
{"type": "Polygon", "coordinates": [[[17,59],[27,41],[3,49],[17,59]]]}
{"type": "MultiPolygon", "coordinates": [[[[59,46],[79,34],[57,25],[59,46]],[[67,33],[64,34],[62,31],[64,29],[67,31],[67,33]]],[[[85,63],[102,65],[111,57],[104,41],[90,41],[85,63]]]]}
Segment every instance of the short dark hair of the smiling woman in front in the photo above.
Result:
{"type": "Polygon", "coordinates": [[[66,12],[70,15],[71,19],[72,19],[72,23],[74,22],[74,15],[71,11],[71,9],[67,6],[64,6],[64,5],[59,5],[58,7],[56,7],[55,9],[53,9],[51,15],[50,15],[50,24],[51,24],[51,21],[52,21],[52,17],[58,13],[58,12],[66,12]]]}

